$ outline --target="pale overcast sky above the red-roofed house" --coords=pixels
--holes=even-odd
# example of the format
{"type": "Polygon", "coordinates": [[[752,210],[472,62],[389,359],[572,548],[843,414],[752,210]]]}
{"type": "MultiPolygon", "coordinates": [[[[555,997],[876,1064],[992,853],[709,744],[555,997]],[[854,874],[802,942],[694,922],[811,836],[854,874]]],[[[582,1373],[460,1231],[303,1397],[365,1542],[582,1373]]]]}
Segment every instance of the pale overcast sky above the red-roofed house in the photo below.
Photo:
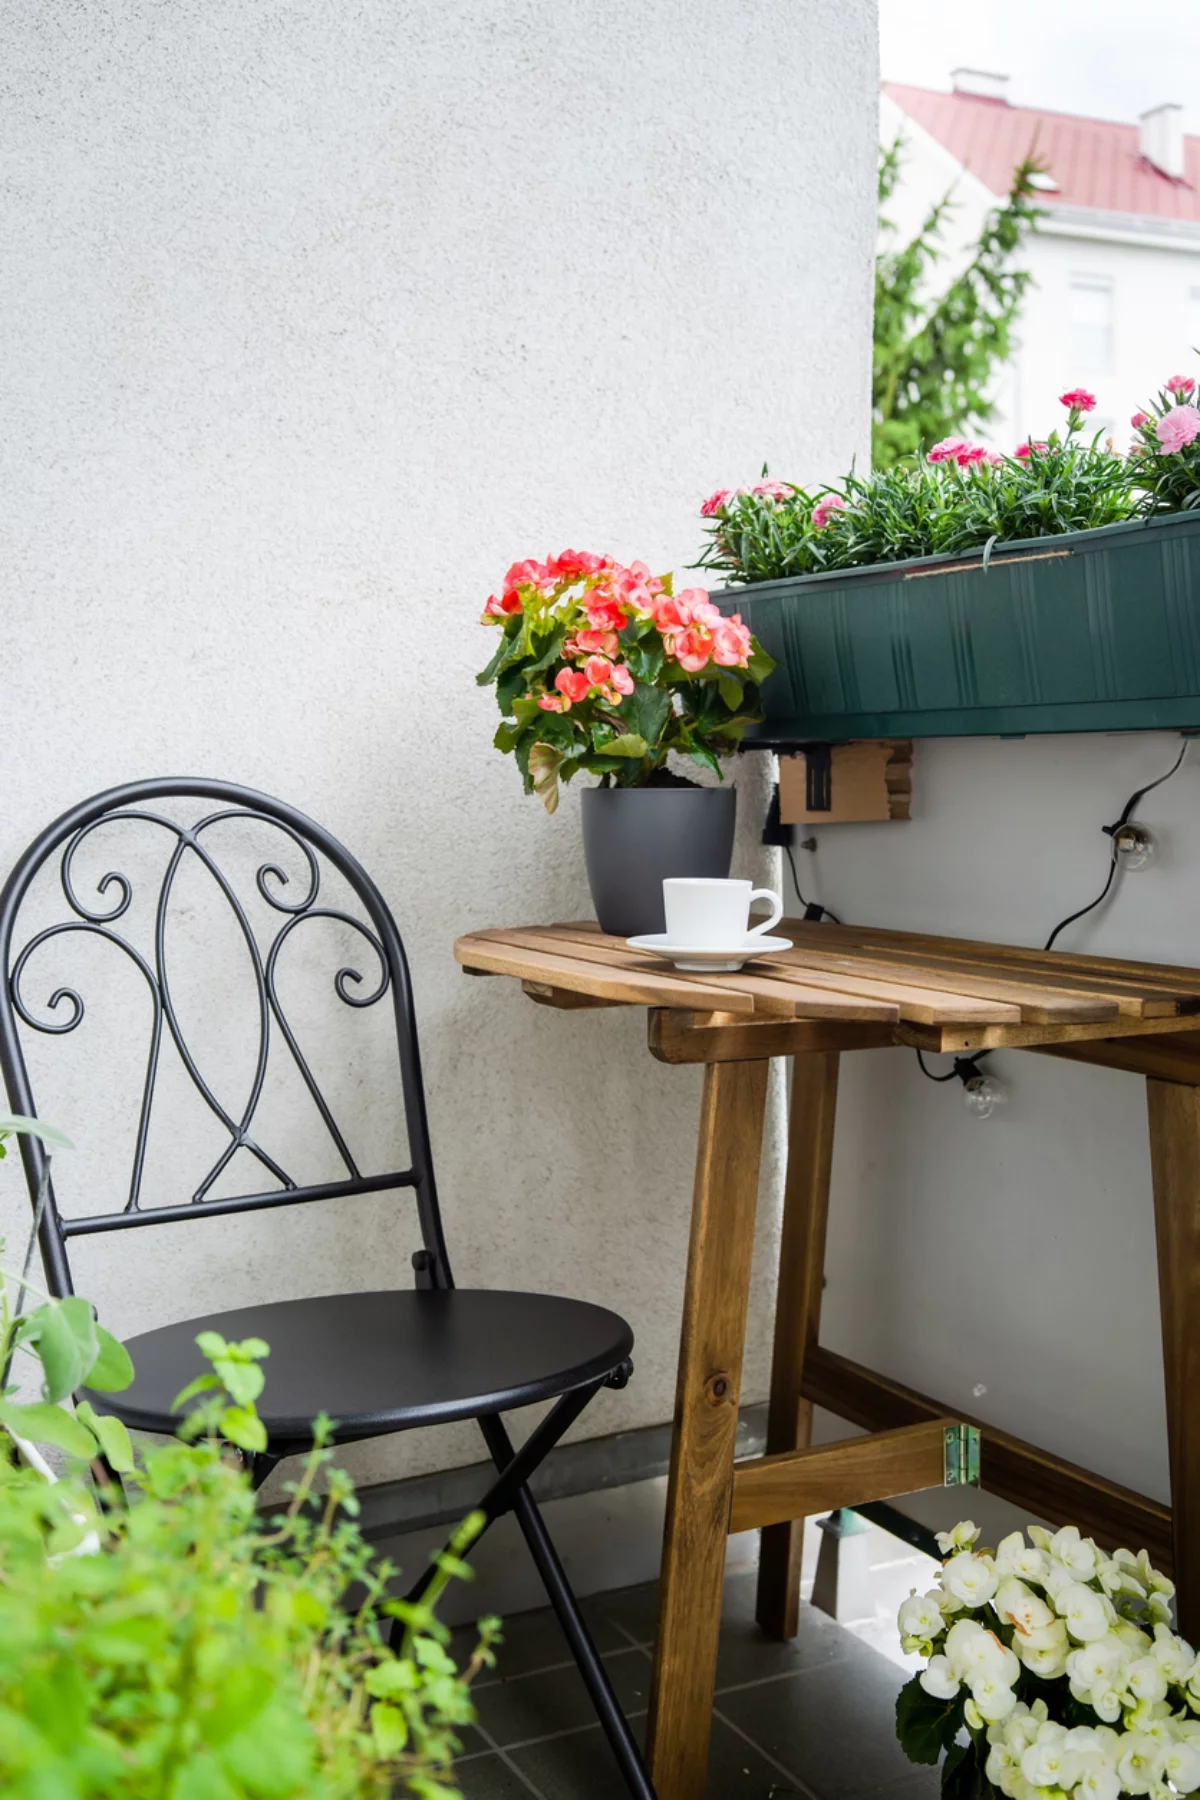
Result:
{"type": "Polygon", "coordinates": [[[880,0],[885,81],[1007,74],[1015,106],[1133,121],[1178,101],[1200,135],[1200,0],[880,0]]]}

